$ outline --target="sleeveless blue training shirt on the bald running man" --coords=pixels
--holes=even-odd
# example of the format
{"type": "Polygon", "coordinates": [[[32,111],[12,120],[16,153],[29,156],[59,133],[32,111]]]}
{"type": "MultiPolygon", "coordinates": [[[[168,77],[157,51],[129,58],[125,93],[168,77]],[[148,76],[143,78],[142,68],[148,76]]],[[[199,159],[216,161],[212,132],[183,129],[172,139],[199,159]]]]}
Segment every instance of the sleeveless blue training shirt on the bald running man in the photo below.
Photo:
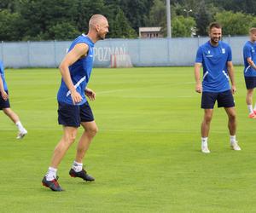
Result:
{"type": "MultiPolygon", "coordinates": [[[[70,48],[68,49],[68,52],[71,51],[73,47],[78,43],[86,43],[89,46],[89,50],[85,57],[77,60],[75,63],[73,63],[72,66],[69,66],[69,72],[73,84],[77,89],[77,92],[79,92],[79,94],[82,96],[82,101],[77,103],[76,105],[82,105],[87,101],[84,95],[84,89],[86,89],[87,83],[89,82],[90,73],[93,66],[94,43],[90,40],[89,37],[82,34],[73,41],[70,48]]],[[[57,99],[60,102],[73,105],[71,93],[69,89],[67,89],[67,85],[62,78],[61,87],[58,91],[57,99]]]]}

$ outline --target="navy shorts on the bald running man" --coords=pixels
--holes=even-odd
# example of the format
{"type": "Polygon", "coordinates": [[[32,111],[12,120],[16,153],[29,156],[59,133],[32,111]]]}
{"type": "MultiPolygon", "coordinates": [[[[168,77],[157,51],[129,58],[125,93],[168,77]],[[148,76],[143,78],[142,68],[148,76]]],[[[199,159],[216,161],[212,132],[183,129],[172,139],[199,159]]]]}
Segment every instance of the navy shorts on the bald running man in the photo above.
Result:
{"type": "Polygon", "coordinates": [[[58,102],[58,122],[64,126],[79,127],[81,122],[94,121],[88,102],[83,105],[69,105],[58,102]]]}

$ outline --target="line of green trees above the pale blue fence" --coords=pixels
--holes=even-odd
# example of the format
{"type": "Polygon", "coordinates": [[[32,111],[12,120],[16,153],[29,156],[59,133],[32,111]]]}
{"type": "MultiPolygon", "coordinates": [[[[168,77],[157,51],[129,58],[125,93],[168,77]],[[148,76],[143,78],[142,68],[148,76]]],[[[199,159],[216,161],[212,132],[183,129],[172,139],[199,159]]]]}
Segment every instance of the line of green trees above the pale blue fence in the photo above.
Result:
{"type": "MultiPolygon", "coordinates": [[[[172,37],[206,36],[212,21],[225,35],[246,35],[255,9],[255,0],[171,0],[172,37]]],[[[88,31],[92,14],[108,17],[108,37],[136,38],[141,26],[166,36],[166,0],[1,0],[0,40],[70,40],[88,31]]]]}

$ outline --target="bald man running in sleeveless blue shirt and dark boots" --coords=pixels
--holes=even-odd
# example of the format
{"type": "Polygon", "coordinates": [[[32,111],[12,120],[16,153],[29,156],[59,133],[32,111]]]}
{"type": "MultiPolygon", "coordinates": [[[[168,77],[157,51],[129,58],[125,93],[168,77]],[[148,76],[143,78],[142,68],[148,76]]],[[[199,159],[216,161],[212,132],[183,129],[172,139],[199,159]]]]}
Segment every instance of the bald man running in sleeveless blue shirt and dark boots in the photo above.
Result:
{"type": "Polygon", "coordinates": [[[84,128],[79,140],[73,166],[69,171],[72,177],[80,177],[84,181],[94,181],[83,169],[83,159],[90,142],[96,135],[97,126],[85,95],[94,101],[96,93],[86,88],[93,66],[93,47],[98,40],[108,33],[108,20],[102,14],[94,14],[89,21],[89,32],[77,37],[59,66],[61,71],[61,87],[58,91],[58,121],[63,126],[63,136],[55,147],[49,170],[42,181],[52,191],[62,191],[57,181],[57,168],[68,148],[75,141],[80,125],[84,128]]]}

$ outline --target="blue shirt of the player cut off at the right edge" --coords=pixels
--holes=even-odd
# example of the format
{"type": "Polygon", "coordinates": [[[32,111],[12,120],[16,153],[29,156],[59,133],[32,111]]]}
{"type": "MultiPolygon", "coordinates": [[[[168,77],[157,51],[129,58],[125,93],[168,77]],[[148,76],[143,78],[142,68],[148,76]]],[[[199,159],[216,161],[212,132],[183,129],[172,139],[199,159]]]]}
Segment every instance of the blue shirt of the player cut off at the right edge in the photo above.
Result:
{"type": "Polygon", "coordinates": [[[254,64],[256,64],[256,43],[247,41],[243,47],[244,76],[256,77],[256,70],[248,64],[247,58],[251,58],[254,64]]]}

